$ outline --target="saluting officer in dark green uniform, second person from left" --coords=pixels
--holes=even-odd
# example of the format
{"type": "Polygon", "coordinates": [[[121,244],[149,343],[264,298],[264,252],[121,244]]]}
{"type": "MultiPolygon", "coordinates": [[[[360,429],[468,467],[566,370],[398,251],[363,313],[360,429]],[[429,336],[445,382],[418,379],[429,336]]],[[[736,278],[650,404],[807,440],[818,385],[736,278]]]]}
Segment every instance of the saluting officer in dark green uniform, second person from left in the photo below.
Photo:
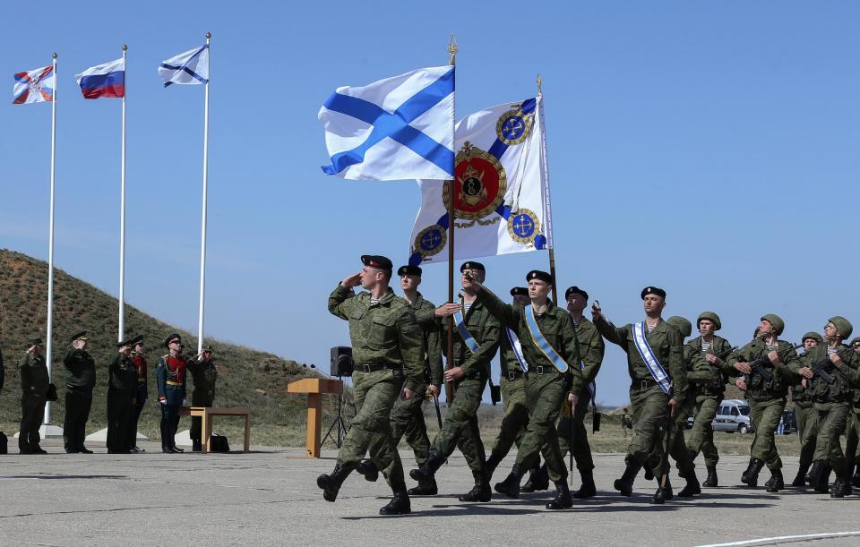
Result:
{"type": "Polygon", "coordinates": [[[92,454],[92,450],[83,446],[87,420],[90,419],[92,389],[96,386],[96,362],[87,353],[87,342],[86,330],[75,334],[72,349],[63,358],[66,372],[63,443],[69,454],[92,454]]]}

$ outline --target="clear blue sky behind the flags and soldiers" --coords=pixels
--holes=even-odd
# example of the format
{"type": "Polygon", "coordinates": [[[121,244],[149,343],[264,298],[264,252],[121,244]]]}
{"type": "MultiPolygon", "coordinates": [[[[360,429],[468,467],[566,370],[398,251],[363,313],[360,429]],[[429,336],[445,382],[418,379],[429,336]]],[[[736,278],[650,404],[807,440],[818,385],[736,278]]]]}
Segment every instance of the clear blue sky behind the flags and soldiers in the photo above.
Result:
{"type": "MultiPolygon", "coordinates": [[[[616,323],[641,318],[642,286],[662,286],[667,315],[716,311],[733,344],[763,313],[792,339],[831,315],[860,321],[855,3],[47,2],[4,16],[0,246],[47,259],[50,107],[13,106],[11,88],[56,51],[56,266],[117,294],[120,103],[85,101],[73,74],[127,43],[127,301],[186,329],[203,90],[163,89],[156,69],[207,30],[212,337],[326,367],[348,343],[326,298],[362,253],[407,260],[419,194],[323,175],[316,114],[339,86],[445,64],[452,31],[458,117],[532,97],[543,75],[560,285],[586,288],[616,323]]],[[[487,284],[504,292],[547,261],[486,259],[487,284]]],[[[446,270],[425,270],[437,303],[446,270]]],[[[620,351],[598,385],[602,402],[626,402],[620,351]]]]}

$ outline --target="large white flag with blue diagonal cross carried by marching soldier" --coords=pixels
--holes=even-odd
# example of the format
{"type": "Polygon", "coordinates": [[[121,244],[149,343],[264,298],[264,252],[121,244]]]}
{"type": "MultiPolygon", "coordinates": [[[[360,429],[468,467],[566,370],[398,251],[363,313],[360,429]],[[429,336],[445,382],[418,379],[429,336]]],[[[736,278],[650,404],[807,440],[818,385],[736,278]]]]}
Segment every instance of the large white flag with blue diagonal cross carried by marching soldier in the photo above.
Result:
{"type": "Polygon", "coordinates": [[[326,175],[388,181],[454,172],[453,66],[338,88],[319,119],[331,156],[326,175]]]}

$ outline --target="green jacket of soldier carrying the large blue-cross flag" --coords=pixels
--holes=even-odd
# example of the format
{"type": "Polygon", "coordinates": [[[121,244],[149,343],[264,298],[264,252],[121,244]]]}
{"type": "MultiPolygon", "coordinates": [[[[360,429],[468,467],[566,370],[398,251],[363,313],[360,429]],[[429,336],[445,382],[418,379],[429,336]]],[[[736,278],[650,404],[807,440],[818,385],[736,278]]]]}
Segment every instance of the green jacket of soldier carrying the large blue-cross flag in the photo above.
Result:
{"type": "MultiPolygon", "coordinates": [[[[475,338],[479,347],[477,352],[473,354],[460,336],[460,331],[457,329],[457,325],[453,323],[452,318],[454,361],[457,366],[463,369],[465,378],[489,378],[490,361],[495,357],[495,352],[498,351],[504,336],[502,326],[479,297],[469,306],[469,312],[463,314],[463,322],[466,323],[466,329],[469,330],[472,338],[475,338]]],[[[443,321],[445,336],[448,335],[448,323],[447,320],[443,321]]]]}

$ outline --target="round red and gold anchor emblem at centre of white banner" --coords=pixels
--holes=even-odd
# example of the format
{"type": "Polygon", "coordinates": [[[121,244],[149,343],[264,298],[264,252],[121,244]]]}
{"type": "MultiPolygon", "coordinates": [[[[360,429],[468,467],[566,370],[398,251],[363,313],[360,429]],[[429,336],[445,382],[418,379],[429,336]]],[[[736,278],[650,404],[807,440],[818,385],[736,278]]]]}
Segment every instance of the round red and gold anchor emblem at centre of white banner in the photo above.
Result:
{"type": "MultiPolygon", "coordinates": [[[[477,220],[498,209],[508,187],[499,160],[466,141],[454,164],[454,216],[477,220]]],[[[443,190],[445,209],[451,206],[448,187],[443,190]]]]}

